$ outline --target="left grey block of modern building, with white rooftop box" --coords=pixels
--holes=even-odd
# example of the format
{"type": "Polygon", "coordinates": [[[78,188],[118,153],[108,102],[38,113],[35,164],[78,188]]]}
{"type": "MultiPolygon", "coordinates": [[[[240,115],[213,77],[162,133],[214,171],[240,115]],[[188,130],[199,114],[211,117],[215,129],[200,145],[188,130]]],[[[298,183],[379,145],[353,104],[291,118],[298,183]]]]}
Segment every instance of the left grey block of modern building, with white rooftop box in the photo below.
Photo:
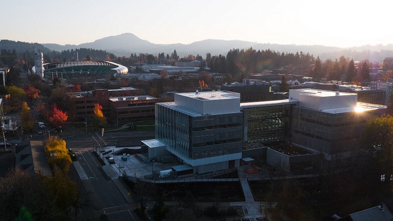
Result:
{"type": "Polygon", "coordinates": [[[239,166],[243,142],[240,94],[227,91],[175,94],[157,103],[156,139],[197,173],[239,166]]]}

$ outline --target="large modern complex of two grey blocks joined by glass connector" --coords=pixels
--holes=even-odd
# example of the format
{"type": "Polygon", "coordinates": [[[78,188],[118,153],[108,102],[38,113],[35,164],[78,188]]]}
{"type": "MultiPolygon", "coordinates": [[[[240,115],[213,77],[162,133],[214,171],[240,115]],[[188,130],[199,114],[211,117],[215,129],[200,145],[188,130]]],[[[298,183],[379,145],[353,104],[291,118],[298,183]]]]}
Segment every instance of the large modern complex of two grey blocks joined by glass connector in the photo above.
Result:
{"type": "Polygon", "coordinates": [[[149,150],[160,148],[155,152],[167,151],[200,174],[239,166],[244,144],[286,139],[299,151],[260,152],[266,163],[291,171],[294,165],[312,167],[321,155],[350,156],[361,148],[366,121],[386,110],[357,102],[357,94],[317,89],[291,89],[289,99],[249,103],[229,91],[177,93],[174,102],[156,104],[156,141],[141,145],[146,157],[159,157],[149,150]]]}

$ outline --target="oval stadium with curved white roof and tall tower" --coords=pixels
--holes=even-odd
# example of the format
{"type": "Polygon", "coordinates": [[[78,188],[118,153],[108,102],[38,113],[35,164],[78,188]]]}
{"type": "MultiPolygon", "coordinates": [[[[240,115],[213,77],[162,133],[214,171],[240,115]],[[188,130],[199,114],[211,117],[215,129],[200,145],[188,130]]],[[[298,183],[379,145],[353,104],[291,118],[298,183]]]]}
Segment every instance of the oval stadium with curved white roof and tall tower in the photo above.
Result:
{"type": "Polygon", "coordinates": [[[36,66],[34,66],[32,71],[47,79],[53,77],[59,78],[60,76],[61,78],[117,77],[127,74],[128,68],[111,61],[68,61],[42,64],[42,71],[36,71],[36,66]]]}

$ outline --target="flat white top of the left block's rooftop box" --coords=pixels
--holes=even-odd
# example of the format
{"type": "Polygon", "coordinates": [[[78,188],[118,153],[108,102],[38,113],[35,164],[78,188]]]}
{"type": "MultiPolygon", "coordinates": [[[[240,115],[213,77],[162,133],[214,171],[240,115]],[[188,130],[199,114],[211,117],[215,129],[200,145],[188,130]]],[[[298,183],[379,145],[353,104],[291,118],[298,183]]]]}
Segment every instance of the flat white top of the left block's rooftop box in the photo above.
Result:
{"type": "Polygon", "coordinates": [[[224,99],[239,99],[240,93],[229,92],[224,90],[217,91],[203,91],[203,92],[188,92],[188,93],[177,93],[178,95],[194,98],[197,100],[224,100],[224,99]]]}

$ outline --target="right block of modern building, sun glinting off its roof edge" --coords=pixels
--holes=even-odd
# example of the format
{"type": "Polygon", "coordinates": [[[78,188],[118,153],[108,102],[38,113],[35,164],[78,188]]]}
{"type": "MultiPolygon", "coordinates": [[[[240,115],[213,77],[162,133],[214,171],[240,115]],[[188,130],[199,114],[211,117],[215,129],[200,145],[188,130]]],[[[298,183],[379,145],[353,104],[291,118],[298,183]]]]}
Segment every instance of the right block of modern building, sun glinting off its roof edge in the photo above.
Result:
{"type": "Polygon", "coordinates": [[[292,143],[328,155],[361,148],[365,123],[387,107],[357,102],[357,94],[315,89],[289,91],[292,143]]]}

